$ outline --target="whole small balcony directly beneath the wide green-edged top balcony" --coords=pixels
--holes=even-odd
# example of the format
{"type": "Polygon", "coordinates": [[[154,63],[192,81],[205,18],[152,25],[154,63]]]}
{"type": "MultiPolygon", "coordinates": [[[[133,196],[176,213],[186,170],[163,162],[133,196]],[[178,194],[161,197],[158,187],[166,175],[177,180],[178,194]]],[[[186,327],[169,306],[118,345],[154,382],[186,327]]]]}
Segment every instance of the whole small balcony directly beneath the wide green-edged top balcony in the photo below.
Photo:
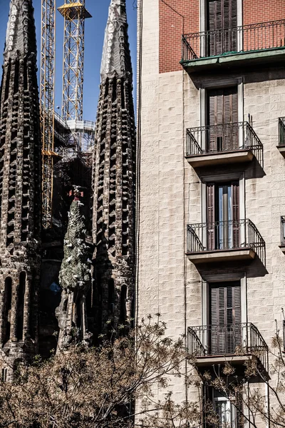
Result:
{"type": "Polygon", "coordinates": [[[193,168],[250,162],[263,168],[263,146],[248,122],[223,123],[186,130],[186,156],[193,168]]]}

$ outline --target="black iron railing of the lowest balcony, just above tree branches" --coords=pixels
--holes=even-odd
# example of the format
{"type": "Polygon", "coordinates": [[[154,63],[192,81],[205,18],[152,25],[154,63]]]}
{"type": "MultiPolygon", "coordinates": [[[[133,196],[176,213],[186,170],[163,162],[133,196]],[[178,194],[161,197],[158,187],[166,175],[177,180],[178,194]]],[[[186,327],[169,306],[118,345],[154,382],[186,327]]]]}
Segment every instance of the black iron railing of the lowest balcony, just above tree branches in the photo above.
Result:
{"type": "Polygon", "coordinates": [[[255,355],[268,372],[268,346],[251,322],[188,327],[188,352],[195,357],[255,355]]]}

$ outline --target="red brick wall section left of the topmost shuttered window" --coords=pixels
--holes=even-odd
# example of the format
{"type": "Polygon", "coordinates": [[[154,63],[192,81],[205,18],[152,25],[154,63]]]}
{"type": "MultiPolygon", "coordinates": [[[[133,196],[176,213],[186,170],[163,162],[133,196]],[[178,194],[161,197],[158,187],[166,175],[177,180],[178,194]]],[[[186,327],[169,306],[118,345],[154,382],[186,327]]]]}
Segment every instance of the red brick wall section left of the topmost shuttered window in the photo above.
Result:
{"type": "Polygon", "coordinates": [[[165,0],[175,11],[160,4],[160,73],[181,70],[181,36],[199,31],[199,0],[165,0]]]}

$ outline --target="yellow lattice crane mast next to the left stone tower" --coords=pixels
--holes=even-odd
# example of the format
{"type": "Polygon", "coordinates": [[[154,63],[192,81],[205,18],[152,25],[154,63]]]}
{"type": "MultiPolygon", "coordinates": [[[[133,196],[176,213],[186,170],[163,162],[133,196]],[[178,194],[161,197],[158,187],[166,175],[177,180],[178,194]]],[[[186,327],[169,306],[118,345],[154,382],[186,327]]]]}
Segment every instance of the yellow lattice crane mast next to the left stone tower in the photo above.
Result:
{"type": "Polygon", "coordinates": [[[56,0],[41,0],[41,139],[43,228],[51,227],[54,153],[56,0]]]}

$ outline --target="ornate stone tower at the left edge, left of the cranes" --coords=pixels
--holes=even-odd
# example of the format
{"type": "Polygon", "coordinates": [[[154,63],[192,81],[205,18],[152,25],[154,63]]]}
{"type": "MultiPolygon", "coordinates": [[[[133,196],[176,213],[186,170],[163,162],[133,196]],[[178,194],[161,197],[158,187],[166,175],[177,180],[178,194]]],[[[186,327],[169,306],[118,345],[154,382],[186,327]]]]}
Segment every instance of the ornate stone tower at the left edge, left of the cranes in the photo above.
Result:
{"type": "Polygon", "coordinates": [[[36,70],[32,1],[11,0],[0,106],[0,343],[10,366],[36,352],[37,344],[41,140],[36,70]]]}

